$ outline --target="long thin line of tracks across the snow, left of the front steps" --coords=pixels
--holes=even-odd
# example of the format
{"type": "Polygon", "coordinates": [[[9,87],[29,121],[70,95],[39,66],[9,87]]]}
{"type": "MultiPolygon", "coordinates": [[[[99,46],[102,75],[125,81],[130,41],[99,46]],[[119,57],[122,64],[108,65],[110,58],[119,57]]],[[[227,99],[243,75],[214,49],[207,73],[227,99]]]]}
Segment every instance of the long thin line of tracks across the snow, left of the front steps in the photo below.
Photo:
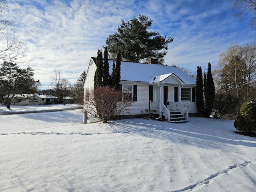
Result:
{"type": "Polygon", "coordinates": [[[137,129],[137,130],[120,130],[120,131],[114,131],[114,132],[102,132],[102,133],[83,133],[83,132],[15,132],[15,133],[2,133],[0,135],[26,135],[26,134],[31,134],[31,135],[98,135],[98,134],[118,134],[118,133],[137,133],[137,132],[142,132],[142,131],[148,131],[148,130],[156,130],[154,128],[145,128],[145,129],[137,129]]]}

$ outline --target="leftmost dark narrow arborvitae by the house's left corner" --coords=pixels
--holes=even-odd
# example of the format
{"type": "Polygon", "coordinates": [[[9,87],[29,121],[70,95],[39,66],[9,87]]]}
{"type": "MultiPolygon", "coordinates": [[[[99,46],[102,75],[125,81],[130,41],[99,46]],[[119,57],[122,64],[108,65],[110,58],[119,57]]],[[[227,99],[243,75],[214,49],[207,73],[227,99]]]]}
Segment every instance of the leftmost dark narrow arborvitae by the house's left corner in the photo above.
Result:
{"type": "Polygon", "coordinates": [[[98,50],[97,58],[96,58],[96,71],[94,75],[94,88],[102,87],[102,67],[103,67],[103,58],[102,51],[98,50]]]}

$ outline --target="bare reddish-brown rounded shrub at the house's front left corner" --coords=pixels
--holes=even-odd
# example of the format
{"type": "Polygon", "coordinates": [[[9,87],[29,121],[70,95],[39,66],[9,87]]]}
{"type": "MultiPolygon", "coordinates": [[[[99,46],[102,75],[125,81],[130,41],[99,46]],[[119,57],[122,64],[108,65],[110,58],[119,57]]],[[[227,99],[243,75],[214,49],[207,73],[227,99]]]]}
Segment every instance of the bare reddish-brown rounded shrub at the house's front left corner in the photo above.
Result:
{"type": "Polygon", "coordinates": [[[117,118],[124,112],[128,113],[132,100],[122,100],[122,91],[110,86],[95,88],[86,92],[84,110],[97,114],[104,123],[117,118]]]}

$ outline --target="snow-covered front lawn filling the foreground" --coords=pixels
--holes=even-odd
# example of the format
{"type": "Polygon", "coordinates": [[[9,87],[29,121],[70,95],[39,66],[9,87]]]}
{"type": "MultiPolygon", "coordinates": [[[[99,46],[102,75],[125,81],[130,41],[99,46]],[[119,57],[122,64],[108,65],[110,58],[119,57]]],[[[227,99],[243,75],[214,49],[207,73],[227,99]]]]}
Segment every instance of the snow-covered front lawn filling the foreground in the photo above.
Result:
{"type": "Polygon", "coordinates": [[[256,189],[256,138],[232,120],[82,122],[79,109],[0,115],[0,191],[256,189]]]}

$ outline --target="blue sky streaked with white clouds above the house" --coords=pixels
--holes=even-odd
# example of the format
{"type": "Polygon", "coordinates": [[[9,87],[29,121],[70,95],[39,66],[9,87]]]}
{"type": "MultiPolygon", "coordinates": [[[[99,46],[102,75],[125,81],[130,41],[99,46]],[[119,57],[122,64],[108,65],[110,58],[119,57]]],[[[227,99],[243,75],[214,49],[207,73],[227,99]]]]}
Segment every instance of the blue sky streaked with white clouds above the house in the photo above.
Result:
{"type": "Polygon", "coordinates": [[[174,38],[165,64],[194,73],[197,66],[207,70],[208,62],[216,68],[227,46],[255,41],[256,30],[249,24],[252,14],[234,18],[233,4],[230,0],[9,0],[9,10],[1,18],[15,21],[15,36],[29,46],[23,60],[36,56],[19,65],[32,67],[45,90],[51,88],[54,70],[75,84],[122,20],[139,14],[153,20],[150,30],[174,38]]]}

